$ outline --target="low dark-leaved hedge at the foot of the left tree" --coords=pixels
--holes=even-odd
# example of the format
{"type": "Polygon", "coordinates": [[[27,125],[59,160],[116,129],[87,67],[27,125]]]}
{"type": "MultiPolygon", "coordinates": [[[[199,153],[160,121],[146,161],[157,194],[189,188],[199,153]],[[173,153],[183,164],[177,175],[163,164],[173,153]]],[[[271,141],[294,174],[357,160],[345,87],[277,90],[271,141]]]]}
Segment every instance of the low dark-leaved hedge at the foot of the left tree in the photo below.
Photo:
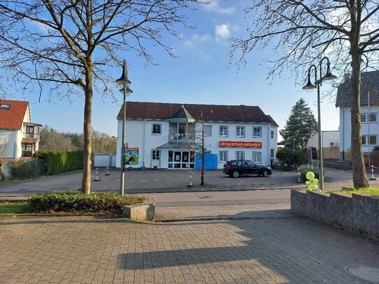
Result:
{"type": "Polygon", "coordinates": [[[38,212],[112,212],[121,213],[126,205],[144,202],[144,197],[117,193],[59,191],[35,193],[29,197],[29,211],[38,212]]]}

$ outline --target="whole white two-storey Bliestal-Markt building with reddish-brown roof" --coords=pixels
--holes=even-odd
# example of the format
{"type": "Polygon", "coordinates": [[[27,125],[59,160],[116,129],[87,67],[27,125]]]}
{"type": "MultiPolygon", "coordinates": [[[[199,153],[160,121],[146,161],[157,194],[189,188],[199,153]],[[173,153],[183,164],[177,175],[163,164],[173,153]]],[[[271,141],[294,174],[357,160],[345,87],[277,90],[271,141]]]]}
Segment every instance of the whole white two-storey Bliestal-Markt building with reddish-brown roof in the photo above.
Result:
{"type": "MultiPolygon", "coordinates": [[[[117,116],[117,167],[121,165],[123,109],[117,116]]],[[[228,160],[262,165],[276,161],[278,125],[257,106],[126,103],[126,166],[185,169],[195,167],[204,133],[216,168],[228,160]],[[200,130],[200,131],[199,131],[200,130]],[[200,133],[200,134],[199,134],[200,133]]]]}

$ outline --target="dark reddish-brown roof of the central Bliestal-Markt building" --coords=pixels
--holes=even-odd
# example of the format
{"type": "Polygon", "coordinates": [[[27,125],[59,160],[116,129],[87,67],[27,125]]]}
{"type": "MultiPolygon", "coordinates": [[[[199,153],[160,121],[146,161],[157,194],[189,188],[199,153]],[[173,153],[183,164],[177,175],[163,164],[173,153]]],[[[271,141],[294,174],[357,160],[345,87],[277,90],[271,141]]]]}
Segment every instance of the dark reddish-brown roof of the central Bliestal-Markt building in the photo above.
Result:
{"type": "MultiPolygon", "coordinates": [[[[179,103],[142,103],[127,102],[127,119],[162,119],[168,120],[179,110],[179,103]]],[[[195,105],[184,104],[188,114],[195,120],[225,122],[272,123],[260,107],[251,105],[195,105]]],[[[117,119],[122,119],[123,109],[117,119]]]]}

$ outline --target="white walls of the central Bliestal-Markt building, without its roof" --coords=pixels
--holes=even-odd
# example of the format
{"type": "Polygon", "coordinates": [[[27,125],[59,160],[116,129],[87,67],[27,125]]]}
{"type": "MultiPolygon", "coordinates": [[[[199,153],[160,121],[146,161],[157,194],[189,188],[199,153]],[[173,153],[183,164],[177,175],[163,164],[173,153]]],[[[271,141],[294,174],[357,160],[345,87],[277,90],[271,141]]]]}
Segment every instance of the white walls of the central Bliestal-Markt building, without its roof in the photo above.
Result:
{"type": "MultiPolygon", "coordinates": [[[[269,123],[235,123],[221,121],[205,121],[207,128],[207,137],[205,137],[205,147],[210,154],[217,154],[217,168],[222,169],[226,160],[235,160],[245,158],[247,160],[256,160],[262,165],[270,165],[276,161],[277,137],[278,129],[269,123]],[[221,127],[223,130],[227,128],[228,135],[220,135],[221,127]],[[211,130],[209,129],[211,128],[211,130]],[[238,128],[238,133],[237,133],[238,128]],[[253,131],[255,128],[255,136],[253,131]],[[243,132],[243,133],[242,133],[243,132]],[[258,135],[258,133],[260,135],[258,135]],[[243,134],[243,135],[242,135],[243,134]],[[220,142],[259,142],[261,148],[251,148],[248,144],[241,144],[241,147],[220,147],[220,142]],[[247,145],[247,146],[246,146],[247,145]],[[221,153],[222,152],[222,153],[221,153]],[[226,152],[226,153],[225,153],[226,152]]],[[[173,151],[174,156],[177,152],[178,156],[186,155],[185,149],[164,149],[159,148],[162,145],[172,142],[177,135],[175,124],[168,120],[152,120],[152,119],[127,119],[126,120],[126,144],[128,148],[138,148],[139,160],[138,165],[132,167],[158,167],[169,168],[173,167],[169,163],[170,151],[173,151]],[[160,134],[153,133],[154,125],[160,125],[160,134]],[[156,151],[159,151],[159,160],[153,160],[153,151],[156,158],[156,151]]],[[[195,125],[188,126],[188,132],[194,129],[195,125]]],[[[117,167],[121,167],[121,133],[122,120],[118,119],[117,126],[117,167]]],[[[188,133],[191,134],[191,133],[188,133]]],[[[224,133],[225,134],[225,133],[224,133]]],[[[180,134],[179,134],[180,136],[180,134]]],[[[185,139],[184,139],[185,140],[185,139]]],[[[184,141],[180,140],[180,141],[184,141]]],[[[188,152],[188,151],[187,151],[188,152]]],[[[172,153],[171,153],[172,154],[172,153]]],[[[190,154],[191,156],[191,154],[190,154]]],[[[191,162],[191,158],[189,158],[191,162]]],[[[184,162],[182,162],[184,163],[184,162]]],[[[128,167],[128,165],[127,165],[128,167]]],[[[192,167],[192,166],[191,166],[192,167]]],[[[183,167],[180,167],[183,168],[183,167]]]]}

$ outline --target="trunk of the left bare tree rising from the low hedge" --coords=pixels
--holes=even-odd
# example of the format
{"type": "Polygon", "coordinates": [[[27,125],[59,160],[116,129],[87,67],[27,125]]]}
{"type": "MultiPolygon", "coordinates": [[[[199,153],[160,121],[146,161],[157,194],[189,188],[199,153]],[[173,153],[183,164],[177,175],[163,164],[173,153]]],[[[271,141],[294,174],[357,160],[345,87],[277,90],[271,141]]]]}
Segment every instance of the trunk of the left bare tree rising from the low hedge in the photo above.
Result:
{"type": "Polygon", "coordinates": [[[82,193],[91,193],[91,114],[92,114],[92,66],[86,68],[86,85],[84,89],[84,149],[82,193]]]}

